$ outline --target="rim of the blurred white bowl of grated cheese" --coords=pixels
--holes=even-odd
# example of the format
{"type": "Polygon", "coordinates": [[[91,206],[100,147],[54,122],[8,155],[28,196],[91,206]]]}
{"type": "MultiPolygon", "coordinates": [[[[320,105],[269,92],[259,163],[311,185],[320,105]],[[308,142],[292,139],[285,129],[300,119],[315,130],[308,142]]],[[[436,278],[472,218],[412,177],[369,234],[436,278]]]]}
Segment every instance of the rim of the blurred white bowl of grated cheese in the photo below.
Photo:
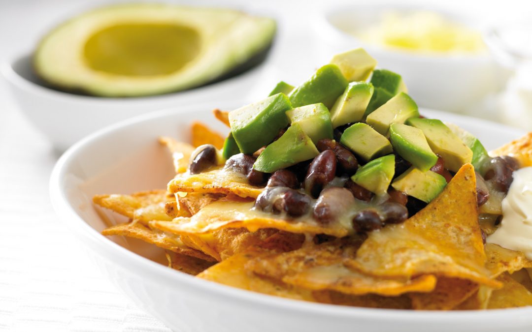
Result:
{"type": "Polygon", "coordinates": [[[423,61],[434,61],[434,62],[441,62],[445,63],[450,61],[450,59],[454,61],[463,61],[463,62],[470,62],[475,63],[478,61],[491,61],[492,56],[489,52],[489,48],[486,45],[486,52],[482,53],[473,53],[473,54],[467,54],[467,53],[443,53],[443,52],[434,52],[434,53],[421,53],[421,52],[408,52],[405,50],[402,50],[400,48],[386,48],[384,46],[376,46],[372,44],[368,44],[367,42],[361,40],[360,38],[351,35],[350,33],[338,28],[333,22],[331,22],[331,16],[335,15],[340,12],[345,11],[355,11],[360,10],[360,8],[371,8],[372,11],[376,13],[381,13],[387,10],[395,10],[395,11],[430,11],[430,12],[436,12],[438,14],[441,14],[442,16],[446,18],[452,18],[452,21],[459,22],[469,28],[477,30],[481,36],[483,37],[484,42],[486,37],[486,31],[487,28],[484,26],[481,26],[480,24],[472,24],[468,19],[471,18],[470,15],[465,15],[461,12],[458,12],[456,10],[451,10],[449,8],[444,8],[438,5],[429,5],[429,4],[400,4],[397,2],[378,2],[378,3],[372,3],[372,2],[361,2],[361,3],[340,3],[336,5],[323,5],[316,10],[314,10],[314,18],[315,21],[319,22],[319,24],[315,25],[315,30],[318,31],[322,37],[326,37],[329,35],[329,37],[334,37],[336,40],[343,40],[343,41],[354,41],[360,45],[360,47],[368,50],[368,53],[370,54],[382,54],[382,53],[390,53],[393,54],[394,57],[397,57],[398,59],[414,59],[414,60],[423,60],[423,61]]]}

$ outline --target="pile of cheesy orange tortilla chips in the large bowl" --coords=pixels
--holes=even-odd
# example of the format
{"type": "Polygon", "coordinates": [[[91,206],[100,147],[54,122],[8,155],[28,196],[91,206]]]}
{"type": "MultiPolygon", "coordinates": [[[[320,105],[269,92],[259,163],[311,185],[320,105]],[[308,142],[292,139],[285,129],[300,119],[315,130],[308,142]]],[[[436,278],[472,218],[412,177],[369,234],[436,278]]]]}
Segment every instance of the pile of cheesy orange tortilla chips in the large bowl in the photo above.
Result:
{"type": "MultiPolygon", "coordinates": [[[[215,110],[227,122],[227,113],[215,110]]],[[[164,249],[168,265],[198,278],[289,299],[356,307],[470,310],[532,305],[532,261],[483,244],[475,172],[464,165],[429,205],[402,224],[367,235],[250,211],[263,188],[221,167],[190,175],[190,155],[223,138],[203,124],[193,144],[161,138],[174,160],[168,190],[97,195],[129,218],[104,235],[164,249]],[[527,270],[530,269],[530,270],[527,270]]],[[[532,135],[500,151],[530,156],[532,135]]]]}

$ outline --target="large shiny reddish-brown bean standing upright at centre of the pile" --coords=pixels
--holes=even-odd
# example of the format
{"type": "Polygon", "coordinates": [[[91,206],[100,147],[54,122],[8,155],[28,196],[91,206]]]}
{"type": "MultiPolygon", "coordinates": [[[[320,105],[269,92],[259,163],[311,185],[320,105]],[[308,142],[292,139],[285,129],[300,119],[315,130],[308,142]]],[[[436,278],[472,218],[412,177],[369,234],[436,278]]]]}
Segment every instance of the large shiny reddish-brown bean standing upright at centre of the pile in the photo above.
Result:
{"type": "Polygon", "coordinates": [[[312,160],[305,177],[305,190],[317,198],[323,187],[334,179],[336,174],[336,156],[333,151],[325,150],[312,160]]]}

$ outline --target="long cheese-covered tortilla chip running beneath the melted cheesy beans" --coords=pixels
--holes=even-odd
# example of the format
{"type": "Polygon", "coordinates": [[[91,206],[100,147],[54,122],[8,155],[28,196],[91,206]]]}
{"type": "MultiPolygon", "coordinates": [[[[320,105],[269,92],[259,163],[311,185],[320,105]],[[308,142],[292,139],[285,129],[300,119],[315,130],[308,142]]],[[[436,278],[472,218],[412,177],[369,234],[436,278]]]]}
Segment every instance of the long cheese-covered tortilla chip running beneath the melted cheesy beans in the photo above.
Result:
{"type": "Polygon", "coordinates": [[[209,233],[221,228],[245,227],[251,232],[260,228],[276,228],[291,233],[327,234],[343,237],[351,229],[340,223],[322,225],[313,219],[277,219],[271,214],[253,210],[254,202],[236,202],[222,198],[201,209],[190,218],[171,222],[155,220],[151,227],[177,234],[209,233]]]}

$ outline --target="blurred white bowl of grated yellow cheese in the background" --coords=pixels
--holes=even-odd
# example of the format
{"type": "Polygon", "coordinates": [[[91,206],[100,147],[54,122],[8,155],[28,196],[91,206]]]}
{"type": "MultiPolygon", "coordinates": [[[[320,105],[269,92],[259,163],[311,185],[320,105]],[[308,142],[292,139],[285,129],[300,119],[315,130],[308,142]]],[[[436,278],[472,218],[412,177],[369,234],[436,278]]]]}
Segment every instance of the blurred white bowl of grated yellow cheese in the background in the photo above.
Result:
{"type": "MultiPolygon", "coordinates": [[[[315,14],[314,32],[320,36],[319,50],[324,60],[355,47],[363,47],[377,59],[380,68],[403,76],[409,94],[422,107],[464,113],[489,93],[500,90],[504,73],[486,52],[477,55],[422,55],[367,44],[346,31],[378,24],[386,11],[411,12],[427,9],[397,4],[338,5],[315,14]]],[[[444,17],[473,25],[471,18],[429,8],[444,17]]],[[[476,27],[475,27],[476,28],[476,27]]]]}

